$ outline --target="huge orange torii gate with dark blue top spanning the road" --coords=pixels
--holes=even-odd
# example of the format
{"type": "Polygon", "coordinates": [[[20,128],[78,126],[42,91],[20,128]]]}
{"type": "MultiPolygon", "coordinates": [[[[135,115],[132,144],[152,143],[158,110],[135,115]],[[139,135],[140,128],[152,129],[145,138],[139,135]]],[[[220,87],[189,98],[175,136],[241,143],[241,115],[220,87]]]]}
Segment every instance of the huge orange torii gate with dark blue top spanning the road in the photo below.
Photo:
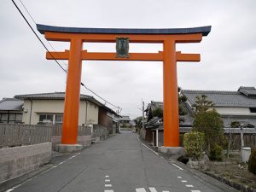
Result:
{"type": "Polygon", "coordinates": [[[201,42],[202,36],[207,36],[211,31],[211,26],[172,29],[75,28],[44,25],[37,25],[37,27],[38,31],[44,34],[45,38],[49,41],[70,42],[70,50],[46,54],[48,60],[68,60],[67,89],[61,137],[62,144],[77,144],[83,60],[163,61],[164,146],[179,146],[177,61],[200,61],[200,54],[183,54],[180,51],[177,52],[176,44],[201,42]],[[121,39],[120,42],[119,38],[121,39]],[[117,47],[119,44],[122,47],[120,48],[120,53],[88,52],[83,49],[83,43],[86,42],[119,42],[117,43],[117,47]],[[163,51],[159,51],[159,53],[128,53],[128,42],[163,44],[163,51]]]}

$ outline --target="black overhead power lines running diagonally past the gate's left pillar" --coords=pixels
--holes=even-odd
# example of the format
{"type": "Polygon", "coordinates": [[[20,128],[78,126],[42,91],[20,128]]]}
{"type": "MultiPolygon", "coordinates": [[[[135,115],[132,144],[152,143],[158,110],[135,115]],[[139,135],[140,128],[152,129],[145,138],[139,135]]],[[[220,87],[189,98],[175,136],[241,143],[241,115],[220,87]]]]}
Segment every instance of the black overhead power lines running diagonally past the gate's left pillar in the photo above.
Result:
{"type": "MultiPolygon", "coordinates": [[[[14,0],[12,0],[12,2],[15,4],[15,7],[16,9],[18,9],[18,11],[20,12],[20,15],[23,17],[23,19],[26,21],[26,24],[30,27],[30,29],[32,30],[32,32],[35,34],[35,36],[38,38],[38,40],[40,41],[40,43],[44,46],[44,49],[46,49],[46,51],[49,53],[49,55],[51,55],[51,57],[55,60],[55,62],[58,64],[59,67],[61,67],[62,71],[64,71],[65,73],[67,73],[67,70],[65,70],[61,64],[55,59],[54,55],[52,55],[50,52],[49,52],[49,49],[46,47],[46,45],[44,44],[44,42],[41,40],[41,38],[38,37],[38,34],[34,31],[34,29],[32,28],[32,26],[30,25],[30,23],[28,22],[28,20],[26,20],[26,17],[25,15],[23,15],[23,13],[21,12],[21,10],[19,9],[19,7],[17,6],[17,4],[15,3],[14,0]]],[[[24,5],[24,3],[21,2],[20,0],[20,3],[22,4],[22,6],[24,7],[24,9],[26,9],[26,6],[24,5]]],[[[31,17],[31,19],[33,20],[32,18],[32,15],[29,13],[29,11],[26,9],[26,12],[27,14],[31,17]]],[[[36,24],[35,20],[33,20],[33,22],[36,24]]],[[[49,41],[47,41],[49,43],[49,41]]],[[[49,44],[51,46],[52,49],[53,46],[51,44],[49,44]]],[[[111,102],[108,102],[107,100],[105,100],[102,96],[99,96],[98,94],[96,94],[96,92],[94,92],[93,90],[90,90],[88,87],[86,87],[82,82],[81,82],[81,85],[84,86],[84,88],[86,90],[89,90],[91,93],[93,93],[95,96],[98,96],[99,98],[101,98],[104,102],[107,102],[109,105],[113,106],[114,108],[119,108],[118,106],[115,106],[113,105],[111,102]]],[[[121,109],[121,108],[119,108],[121,109]]]]}

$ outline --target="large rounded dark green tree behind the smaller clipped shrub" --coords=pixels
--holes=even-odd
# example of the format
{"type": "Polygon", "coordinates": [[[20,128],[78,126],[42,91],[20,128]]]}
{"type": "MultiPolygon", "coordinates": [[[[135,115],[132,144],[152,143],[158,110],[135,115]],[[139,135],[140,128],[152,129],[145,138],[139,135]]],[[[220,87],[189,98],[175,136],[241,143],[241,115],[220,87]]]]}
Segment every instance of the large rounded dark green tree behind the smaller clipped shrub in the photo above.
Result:
{"type": "Polygon", "coordinates": [[[205,134],[205,142],[207,145],[207,152],[210,151],[211,146],[221,144],[224,141],[224,122],[219,113],[213,109],[211,111],[201,110],[195,115],[193,122],[194,131],[201,131],[205,134]]]}

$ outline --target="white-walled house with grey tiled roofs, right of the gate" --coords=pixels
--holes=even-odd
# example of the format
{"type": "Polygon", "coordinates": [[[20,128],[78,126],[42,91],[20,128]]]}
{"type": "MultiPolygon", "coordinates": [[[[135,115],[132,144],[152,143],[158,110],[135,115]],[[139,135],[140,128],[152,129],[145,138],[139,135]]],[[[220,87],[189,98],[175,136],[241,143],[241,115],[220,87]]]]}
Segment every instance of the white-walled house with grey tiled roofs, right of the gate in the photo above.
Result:
{"type": "Polygon", "coordinates": [[[182,90],[187,97],[189,108],[193,108],[195,97],[205,95],[213,102],[222,119],[224,127],[230,127],[232,122],[238,122],[244,127],[256,127],[256,89],[241,86],[237,91],[226,90],[182,90]]]}

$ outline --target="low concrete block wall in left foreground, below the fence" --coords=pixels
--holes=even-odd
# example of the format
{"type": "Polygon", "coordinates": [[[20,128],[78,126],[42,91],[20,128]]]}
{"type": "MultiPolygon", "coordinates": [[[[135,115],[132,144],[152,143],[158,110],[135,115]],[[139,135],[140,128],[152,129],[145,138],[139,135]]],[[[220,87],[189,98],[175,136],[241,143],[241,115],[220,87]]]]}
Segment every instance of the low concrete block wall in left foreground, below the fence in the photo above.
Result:
{"type": "Polygon", "coordinates": [[[0,183],[37,169],[50,158],[51,143],[0,148],[0,183]]]}

